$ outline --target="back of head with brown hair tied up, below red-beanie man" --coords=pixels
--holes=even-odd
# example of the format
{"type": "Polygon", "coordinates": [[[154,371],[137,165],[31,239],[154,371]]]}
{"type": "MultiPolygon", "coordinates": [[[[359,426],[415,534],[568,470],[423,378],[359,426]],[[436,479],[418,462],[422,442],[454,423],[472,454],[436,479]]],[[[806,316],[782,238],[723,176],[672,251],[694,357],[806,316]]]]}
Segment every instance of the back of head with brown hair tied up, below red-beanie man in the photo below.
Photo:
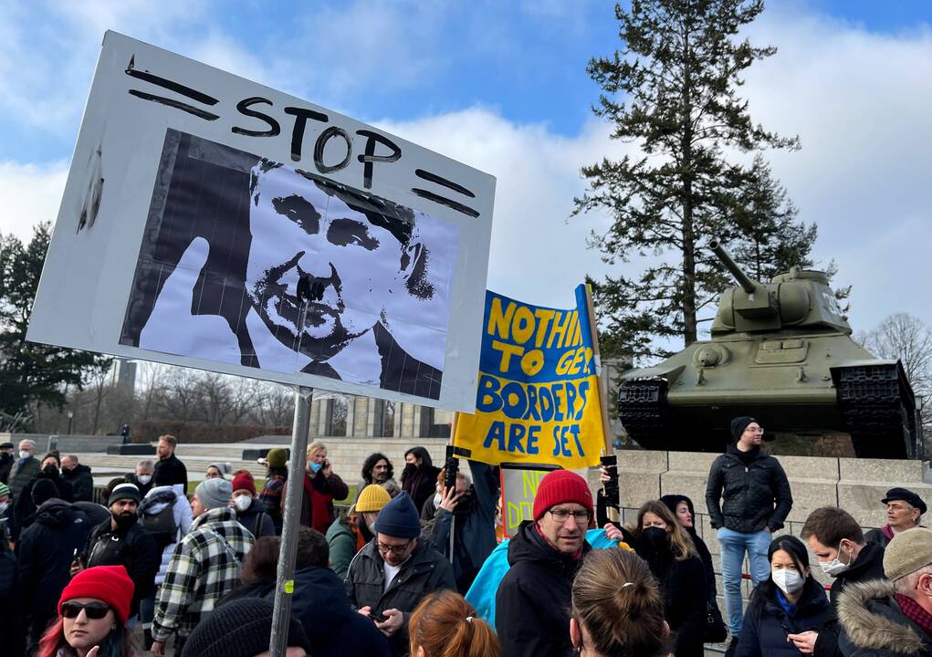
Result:
{"type": "Polygon", "coordinates": [[[569,639],[581,657],[669,654],[664,595],[637,554],[593,550],[572,588],[569,639]]]}

